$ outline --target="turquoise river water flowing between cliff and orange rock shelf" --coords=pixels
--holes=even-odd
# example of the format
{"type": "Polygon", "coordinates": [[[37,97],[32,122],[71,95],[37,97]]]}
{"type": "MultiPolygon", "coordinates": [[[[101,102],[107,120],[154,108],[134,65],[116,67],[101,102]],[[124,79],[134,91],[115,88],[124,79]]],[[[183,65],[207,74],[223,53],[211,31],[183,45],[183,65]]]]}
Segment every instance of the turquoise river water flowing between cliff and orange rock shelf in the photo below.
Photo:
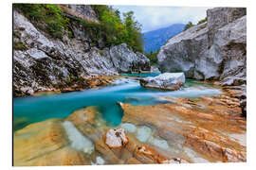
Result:
{"type": "Polygon", "coordinates": [[[87,106],[99,106],[103,118],[109,126],[118,126],[123,113],[117,102],[133,105],[155,105],[168,103],[168,101],[160,99],[159,96],[197,97],[221,93],[217,89],[211,89],[204,85],[204,83],[198,84],[192,80],[187,80],[182,90],[166,92],[145,89],[139,85],[138,81],[128,79],[126,82],[101,89],[16,97],[13,99],[14,130],[50,118],[66,117],[74,110],[87,106]]]}

